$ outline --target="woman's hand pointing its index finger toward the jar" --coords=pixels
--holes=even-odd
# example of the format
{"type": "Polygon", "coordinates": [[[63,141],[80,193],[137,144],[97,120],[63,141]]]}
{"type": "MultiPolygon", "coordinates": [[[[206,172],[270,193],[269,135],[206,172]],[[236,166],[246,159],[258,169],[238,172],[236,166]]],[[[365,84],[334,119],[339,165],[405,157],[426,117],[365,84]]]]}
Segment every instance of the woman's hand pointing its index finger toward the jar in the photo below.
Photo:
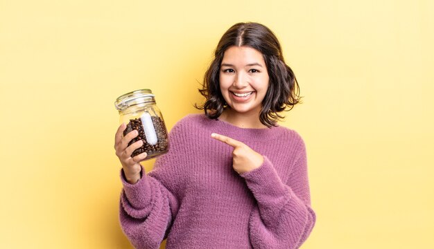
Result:
{"type": "Polygon", "coordinates": [[[261,167],[263,156],[245,145],[243,142],[217,133],[212,133],[211,137],[234,148],[234,151],[232,151],[232,167],[234,167],[234,170],[238,174],[250,172],[253,169],[261,167]]]}

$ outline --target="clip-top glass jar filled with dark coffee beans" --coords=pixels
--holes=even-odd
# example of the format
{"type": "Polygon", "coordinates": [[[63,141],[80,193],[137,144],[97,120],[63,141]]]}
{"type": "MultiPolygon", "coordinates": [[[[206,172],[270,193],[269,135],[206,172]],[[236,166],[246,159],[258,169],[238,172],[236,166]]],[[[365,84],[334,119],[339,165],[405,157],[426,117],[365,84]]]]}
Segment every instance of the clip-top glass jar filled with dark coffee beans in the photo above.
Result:
{"type": "Polygon", "coordinates": [[[133,138],[128,146],[138,140],[143,141],[143,145],[134,150],[131,157],[146,152],[148,156],[145,160],[148,160],[168,151],[166,125],[154,97],[150,89],[141,89],[125,93],[114,102],[119,111],[120,123],[127,124],[123,136],[132,130],[139,131],[139,136],[133,138]]]}

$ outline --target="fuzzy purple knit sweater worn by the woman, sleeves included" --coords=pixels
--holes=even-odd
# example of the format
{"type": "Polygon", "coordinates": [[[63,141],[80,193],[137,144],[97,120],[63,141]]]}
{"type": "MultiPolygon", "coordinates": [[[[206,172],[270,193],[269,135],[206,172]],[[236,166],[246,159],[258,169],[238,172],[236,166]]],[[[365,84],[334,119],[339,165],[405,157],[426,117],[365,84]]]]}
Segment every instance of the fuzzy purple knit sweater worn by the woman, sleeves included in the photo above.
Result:
{"type": "Polygon", "coordinates": [[[134,185],[121,173],[120,221],[136,248],[299,248],[315,224],[306,149],[284,127],[243,129],[205,115],[175,124],[170,149],[134,185]],[[264,156],[261,167],[237,174],[234,138],[264,156]]]}

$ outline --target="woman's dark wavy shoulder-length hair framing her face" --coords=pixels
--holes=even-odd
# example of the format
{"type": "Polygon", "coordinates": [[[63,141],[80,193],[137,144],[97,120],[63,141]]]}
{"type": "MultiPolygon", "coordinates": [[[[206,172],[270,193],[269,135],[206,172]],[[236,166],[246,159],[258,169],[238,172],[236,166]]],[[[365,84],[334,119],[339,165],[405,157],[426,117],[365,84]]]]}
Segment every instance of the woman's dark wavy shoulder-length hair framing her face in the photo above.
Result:
{"type": "Polygon", "coordinates": [[[268,90],[262,101],[259,120],[266,127],[277,125],[284,118],[279,112],[290,111],[300,102],[300,88],[293,70],[286,65],[281,46],[272,31],[262,24],[248,22],[238,23],[229,28],[218,42],[214,59],[205,73],[200,94],[205,103],[197,109],[203,109],[208,118],[217,119],[227,103],[220,92],[220,64],[227,48],[231,46],[248,46],[262,53],[270,79],[268,90]]]}

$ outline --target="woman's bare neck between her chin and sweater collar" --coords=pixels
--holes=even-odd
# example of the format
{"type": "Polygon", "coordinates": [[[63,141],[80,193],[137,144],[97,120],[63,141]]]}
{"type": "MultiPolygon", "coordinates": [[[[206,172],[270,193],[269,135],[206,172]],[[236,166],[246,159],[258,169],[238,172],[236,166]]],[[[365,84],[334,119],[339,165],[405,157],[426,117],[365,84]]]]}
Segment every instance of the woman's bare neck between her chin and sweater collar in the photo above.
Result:
{"type": "Polygon", "coordinates": [[[225,109],[218,119],[240,128],[267,128],[259,120],[259,113],[237,113],[232,109],[225,109]]]}

